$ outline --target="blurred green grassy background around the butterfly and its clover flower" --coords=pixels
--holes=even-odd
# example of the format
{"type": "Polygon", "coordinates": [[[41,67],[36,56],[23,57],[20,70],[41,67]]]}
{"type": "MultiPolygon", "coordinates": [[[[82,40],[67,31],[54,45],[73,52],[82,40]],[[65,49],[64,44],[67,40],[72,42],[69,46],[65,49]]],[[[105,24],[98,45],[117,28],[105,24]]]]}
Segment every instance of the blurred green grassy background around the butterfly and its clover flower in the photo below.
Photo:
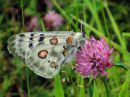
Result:
{"type": "Polygon", "coordinates": [[[108,70],[107,82],[95,80],[93,97],[130,97],[129,0],[0,0],[0,97],[89,97],[90,79],[71,69],[75,62],[66,65],[60,77],[45,79],[7,51],[7,39],[14,34],[45,29],[77,32],[81,21],[87,38],[105,37],[115,49],[113,64],[118,65],[108,70]],[[49,12],[54,15],[48,20],[49,12]]]}

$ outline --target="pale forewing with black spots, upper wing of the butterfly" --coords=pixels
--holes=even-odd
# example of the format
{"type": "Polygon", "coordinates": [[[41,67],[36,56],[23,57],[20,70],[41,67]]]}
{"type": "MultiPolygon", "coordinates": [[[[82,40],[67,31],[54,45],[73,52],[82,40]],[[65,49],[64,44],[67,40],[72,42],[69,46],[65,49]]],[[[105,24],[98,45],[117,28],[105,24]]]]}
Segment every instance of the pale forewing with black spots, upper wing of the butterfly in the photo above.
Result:
{"type": "Polygon", "coordinates": [[[59,43],[64,43],[65,38],[72,32],[29,32],[29,33],[20,33],[13,35],[8,39],[8,50],[15,57],[20,59],[25,59],[25,53],[27,53],[31,48],[36,47],[37,45],[49,45],[50,39],[55,36],[59,37],[59,43]],[[67,34],[66,34],[67,33],[67,34]]]}

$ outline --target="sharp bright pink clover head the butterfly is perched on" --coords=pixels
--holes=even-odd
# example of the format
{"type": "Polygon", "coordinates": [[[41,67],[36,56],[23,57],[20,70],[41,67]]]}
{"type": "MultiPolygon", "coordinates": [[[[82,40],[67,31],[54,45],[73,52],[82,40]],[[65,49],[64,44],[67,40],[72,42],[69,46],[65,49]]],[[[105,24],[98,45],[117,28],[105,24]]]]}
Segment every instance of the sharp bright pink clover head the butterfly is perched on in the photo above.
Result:
{"type": "Polygon", "coordinates": [[[96,40],[91,37],[90,40],[85,41],[84,47],[76,53],[75,70],[84,77],[107,76],[105,70],[112,67],[110,59],[112,52],[113,49],[109,48],[103,38],[96,40]]]}

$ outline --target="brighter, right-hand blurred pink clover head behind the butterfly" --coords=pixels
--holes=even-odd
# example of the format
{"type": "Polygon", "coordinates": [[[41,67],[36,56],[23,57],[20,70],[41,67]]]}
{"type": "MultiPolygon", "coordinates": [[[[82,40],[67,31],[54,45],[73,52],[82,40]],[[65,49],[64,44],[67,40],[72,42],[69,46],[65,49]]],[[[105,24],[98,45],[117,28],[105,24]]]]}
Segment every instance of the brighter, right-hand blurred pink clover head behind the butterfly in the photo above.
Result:
{"type": "Polygon", "coordinates": [[[63,17],[54,11],[50,11],[43,17],[43,21],[47,30],[57,29],[63,24],[63,17]]]}

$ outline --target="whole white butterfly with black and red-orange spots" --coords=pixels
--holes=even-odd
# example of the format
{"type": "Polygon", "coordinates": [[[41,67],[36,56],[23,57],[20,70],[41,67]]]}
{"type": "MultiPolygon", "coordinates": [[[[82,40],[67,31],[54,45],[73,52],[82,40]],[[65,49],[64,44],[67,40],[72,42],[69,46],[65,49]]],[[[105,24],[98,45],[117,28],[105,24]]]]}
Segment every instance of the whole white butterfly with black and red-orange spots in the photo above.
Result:
{"type": "Polygon", "coordinates": [[[61,65],[71,61],[84,44],[81,32],[27,32],[8,39],[8,51],[21,59],[37,75],[54,77],[61,65]]]}

